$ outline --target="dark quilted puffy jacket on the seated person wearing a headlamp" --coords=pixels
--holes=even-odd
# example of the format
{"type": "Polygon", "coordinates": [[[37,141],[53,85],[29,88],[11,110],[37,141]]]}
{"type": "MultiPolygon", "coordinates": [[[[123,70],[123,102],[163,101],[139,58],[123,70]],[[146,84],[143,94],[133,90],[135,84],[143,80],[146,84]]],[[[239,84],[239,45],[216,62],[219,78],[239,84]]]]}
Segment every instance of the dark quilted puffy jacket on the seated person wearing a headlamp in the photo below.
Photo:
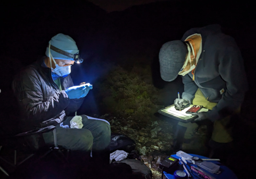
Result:
{"type": "Polygon", "coordinates": [[[43,59],[29,65],[13,81],[12,88],[21,109],[22,131],[58,125],[83,103],[83,98],[69,99],[64,91],[74,86],[71,76],[60,77],[60,91],[51,77],[50,68],[42,66],[43,59]]]}

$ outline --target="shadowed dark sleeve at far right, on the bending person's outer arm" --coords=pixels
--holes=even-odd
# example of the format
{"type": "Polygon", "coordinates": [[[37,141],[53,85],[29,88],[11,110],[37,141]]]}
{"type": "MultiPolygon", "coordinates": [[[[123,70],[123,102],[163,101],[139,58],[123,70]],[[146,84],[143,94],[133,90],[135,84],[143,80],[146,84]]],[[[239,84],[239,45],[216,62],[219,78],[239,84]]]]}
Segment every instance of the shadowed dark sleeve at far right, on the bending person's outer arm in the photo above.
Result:
{"type": "Polygon", "coordinates": [[[221,100],[207,113],[210,120],[220,120],[238,110],[243,102],[245,92],[248,90],[243,59],[235,40],[226,38],[228,46],[224,47],[223,57],[219,61],[219,74],[226,82],[226,92],[221,100]]]}

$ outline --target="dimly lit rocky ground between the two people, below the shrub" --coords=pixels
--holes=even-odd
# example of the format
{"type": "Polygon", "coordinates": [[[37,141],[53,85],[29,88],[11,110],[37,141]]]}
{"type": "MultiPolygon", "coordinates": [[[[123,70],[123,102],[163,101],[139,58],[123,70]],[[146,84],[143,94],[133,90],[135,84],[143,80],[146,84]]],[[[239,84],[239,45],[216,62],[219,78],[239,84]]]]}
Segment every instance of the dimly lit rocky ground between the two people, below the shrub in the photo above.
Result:
{"type": "MultiPolygon", "coordinates": [[[[155,117],[147,122],[132,117],[117,118],[108,114],[100,118],[107,119],[111,124],[112,132],[122,133],[136,142],[136,148],[144,162],[152,171],[153,179],[160,179],[159,163],[167,156],[172,155],[173,124],[155,117]],[[158,120],[157,120],[158,119],[158,120]]],[[[205,152],[205,127],[196,134],[197,143],[186,144],[184,151],[203,154],[205,152]]]]}

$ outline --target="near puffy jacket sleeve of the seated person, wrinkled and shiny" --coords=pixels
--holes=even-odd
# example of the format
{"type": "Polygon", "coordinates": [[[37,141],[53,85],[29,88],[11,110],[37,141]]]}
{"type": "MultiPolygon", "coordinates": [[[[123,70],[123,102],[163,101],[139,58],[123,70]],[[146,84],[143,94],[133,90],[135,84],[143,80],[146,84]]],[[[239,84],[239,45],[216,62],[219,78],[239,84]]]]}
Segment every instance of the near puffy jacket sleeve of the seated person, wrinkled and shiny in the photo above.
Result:
{"type": "Polygon", "coordinates": [[[39,80],[38,75],[34,70],[23,71],[12,86],[23,116],[36,124],[58,116],[70,101],[65,92],[54,93],[43,101],[42,90],[50,89],[39,80]]]}

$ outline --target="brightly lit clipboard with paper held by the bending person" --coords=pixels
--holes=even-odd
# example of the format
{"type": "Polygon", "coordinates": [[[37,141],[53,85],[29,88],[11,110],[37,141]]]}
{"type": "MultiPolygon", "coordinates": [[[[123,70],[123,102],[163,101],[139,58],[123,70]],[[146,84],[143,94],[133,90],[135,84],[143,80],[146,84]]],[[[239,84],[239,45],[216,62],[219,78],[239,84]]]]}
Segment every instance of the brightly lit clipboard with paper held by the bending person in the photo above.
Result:
{"type": "MultiPolygon", "coordinates": [[[[183,109],[182,111],[178,111],[175,109],[174,104],[171,106],[167,106],[163,109],[159,109],[158,113],[165,115],[167,117],[171,117],[173,119],[179,120],[183,123],[189,123],[190,121],[194,120],[195,118],[197,118],[197,116],[193,116],[191,114],[187,114],[187,110],[189,110],[192,106],[192,104],[190,104],[190,107],[183,109]]],[[[207,112],[208,109],[206,108],[202,108],[199,112],[207,112]]]]}

